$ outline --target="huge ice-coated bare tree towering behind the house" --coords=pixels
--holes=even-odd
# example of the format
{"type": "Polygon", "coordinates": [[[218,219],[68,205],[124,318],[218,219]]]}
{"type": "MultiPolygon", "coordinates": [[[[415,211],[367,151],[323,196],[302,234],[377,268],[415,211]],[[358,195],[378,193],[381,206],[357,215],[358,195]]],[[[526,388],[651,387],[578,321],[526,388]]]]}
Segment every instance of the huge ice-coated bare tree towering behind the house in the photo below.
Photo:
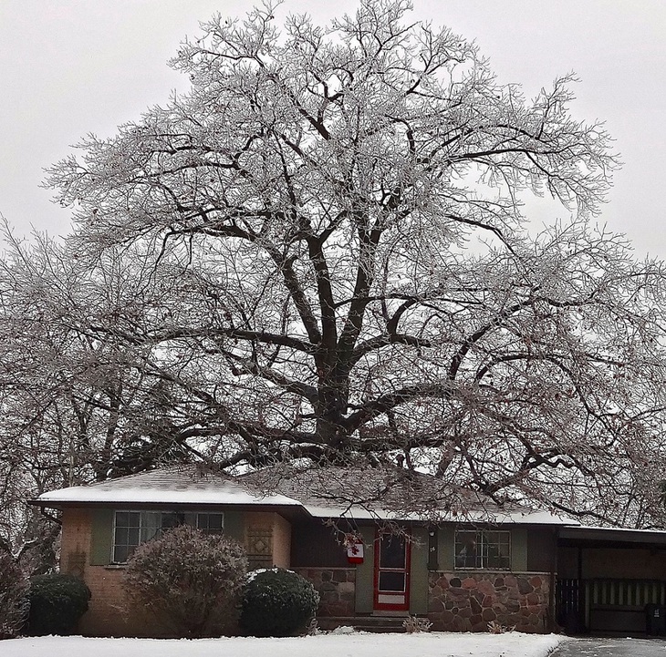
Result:
{"type": "Polygon", "coordinates": [[[114,345],[115,372],[126,350],[126,376],[170,391],[162,424],[222,467],[400,452],[649,523],[663,278],[590,223],[609,137],[570,115],[572,77],[528,101],[409,9],[203,26],[172,62],[189,94],[51,169],[82,298],[112,263],[140,271],[65,303],[68,325],[114,345]],[[533,193],[567,220],[536,230],[533,193]]]}

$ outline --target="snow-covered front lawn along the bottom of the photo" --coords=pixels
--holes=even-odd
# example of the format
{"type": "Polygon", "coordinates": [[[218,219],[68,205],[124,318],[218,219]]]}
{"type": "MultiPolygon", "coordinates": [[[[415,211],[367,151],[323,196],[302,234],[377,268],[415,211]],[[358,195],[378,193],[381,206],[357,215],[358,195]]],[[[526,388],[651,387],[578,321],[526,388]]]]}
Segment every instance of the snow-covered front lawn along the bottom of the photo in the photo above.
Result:
{"type": "Polygon", "coordinates": [[[32,637],[0,642],[2,657],[546,657],[555,634],[432,632],[419,634],[322,634],[287,639],[88,639],[32,637]]]}

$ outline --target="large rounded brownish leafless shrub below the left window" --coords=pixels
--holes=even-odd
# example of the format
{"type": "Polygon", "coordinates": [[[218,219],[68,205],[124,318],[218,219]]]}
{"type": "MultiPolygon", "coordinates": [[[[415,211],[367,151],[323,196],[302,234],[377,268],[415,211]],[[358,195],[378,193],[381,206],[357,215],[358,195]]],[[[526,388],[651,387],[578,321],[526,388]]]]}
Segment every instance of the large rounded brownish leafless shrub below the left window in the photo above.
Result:
{"type": "Polygon", "coordinates": [[[172,636],[219,636],[234,628],[247,572],[234,540],[183,525],[143,543],[124,579],[130,611],[143,611],[172,636]]]}

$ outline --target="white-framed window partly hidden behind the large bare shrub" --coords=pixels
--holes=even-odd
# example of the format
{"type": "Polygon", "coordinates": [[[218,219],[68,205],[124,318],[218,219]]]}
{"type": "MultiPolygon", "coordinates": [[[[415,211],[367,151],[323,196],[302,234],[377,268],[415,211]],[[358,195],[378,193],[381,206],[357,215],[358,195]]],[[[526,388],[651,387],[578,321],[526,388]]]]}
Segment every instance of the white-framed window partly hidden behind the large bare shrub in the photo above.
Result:
{"type": "Polygon", "coordinates": [[[113,563],[125,563],[140,543],[162,531],[192,525],[205,534],[224,531],[224,513],[179,513],[176,511],[116,511],[113,523],[113,563]]]}

